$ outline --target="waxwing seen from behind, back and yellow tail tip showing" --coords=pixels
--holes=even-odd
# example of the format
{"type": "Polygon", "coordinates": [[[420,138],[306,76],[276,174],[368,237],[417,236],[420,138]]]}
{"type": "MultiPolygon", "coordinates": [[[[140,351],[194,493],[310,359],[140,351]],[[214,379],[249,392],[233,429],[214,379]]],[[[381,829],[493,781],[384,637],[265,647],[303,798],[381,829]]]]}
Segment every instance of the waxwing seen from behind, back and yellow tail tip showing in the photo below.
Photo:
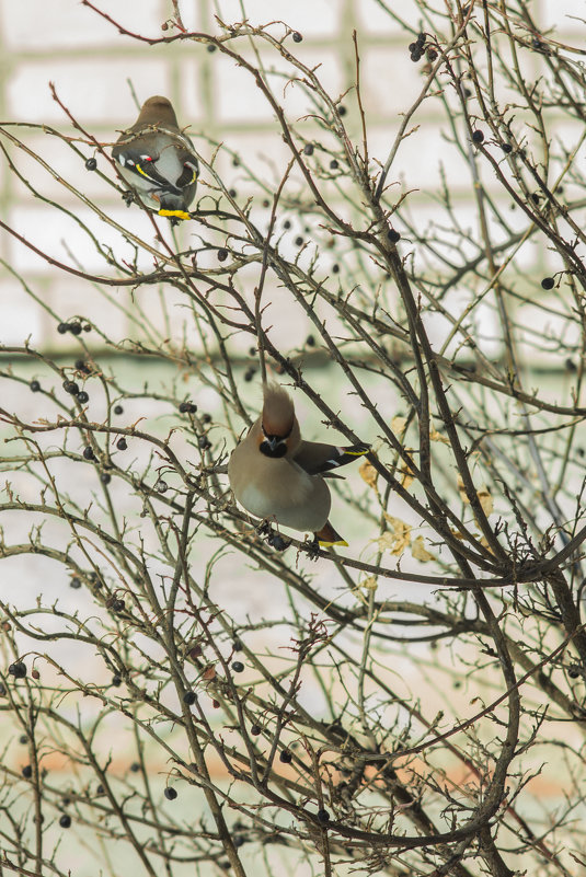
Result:
{"type": "Polygon", "coordinates": [[[112,150],[120,175],[159,216],[189,219],[199,165],[166,97],[149,97],[112,150]]]}

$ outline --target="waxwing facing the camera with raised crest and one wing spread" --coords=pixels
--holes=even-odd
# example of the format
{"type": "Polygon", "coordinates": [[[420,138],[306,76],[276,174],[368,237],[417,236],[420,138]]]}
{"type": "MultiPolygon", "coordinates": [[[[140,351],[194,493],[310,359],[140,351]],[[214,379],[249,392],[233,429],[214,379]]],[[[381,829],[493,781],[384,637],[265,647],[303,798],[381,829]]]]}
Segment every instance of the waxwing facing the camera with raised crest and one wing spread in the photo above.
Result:
{"type": "Polygon", "coordinates": [[[332,497],[324,478],[340,477],[332,470],[367,453],[368,446],[303,441],[289,394],[272,383],[263,395],[261,416],[228,464],[235,498],[257,518],[312,532],[323,547],[347,545],[328,520],[332,497]]]}

